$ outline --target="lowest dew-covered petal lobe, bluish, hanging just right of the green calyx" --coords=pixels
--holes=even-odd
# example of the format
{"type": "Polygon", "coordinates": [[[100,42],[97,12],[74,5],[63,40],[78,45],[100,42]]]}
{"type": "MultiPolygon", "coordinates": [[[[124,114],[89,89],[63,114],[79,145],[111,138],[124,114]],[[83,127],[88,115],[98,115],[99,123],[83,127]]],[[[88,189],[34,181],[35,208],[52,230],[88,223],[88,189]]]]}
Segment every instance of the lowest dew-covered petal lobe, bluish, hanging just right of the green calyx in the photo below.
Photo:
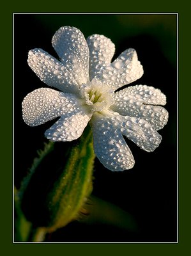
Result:
{"type": "Polygon", "coordinates": [[[91,119],[95,154],[105,168],[123,171],[133,168],[134,157],[118,127],[109,117],[95,113],[91,119]]]}

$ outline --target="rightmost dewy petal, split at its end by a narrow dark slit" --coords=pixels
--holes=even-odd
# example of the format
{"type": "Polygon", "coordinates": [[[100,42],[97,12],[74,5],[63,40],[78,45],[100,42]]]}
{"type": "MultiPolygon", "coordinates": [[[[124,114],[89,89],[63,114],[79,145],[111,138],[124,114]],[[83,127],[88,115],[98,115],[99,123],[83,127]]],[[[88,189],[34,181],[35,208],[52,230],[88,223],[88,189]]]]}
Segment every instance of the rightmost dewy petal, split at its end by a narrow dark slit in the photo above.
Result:
{"type": "Polygon", "coordinates": [[[148,104],[164,105],[165,102],[166,97],[159,89],[136,85],[114,93],[111,109],[120,115],[143,118],[158,131],[167,124],[169,114],[161,106],[148,104]]]}

